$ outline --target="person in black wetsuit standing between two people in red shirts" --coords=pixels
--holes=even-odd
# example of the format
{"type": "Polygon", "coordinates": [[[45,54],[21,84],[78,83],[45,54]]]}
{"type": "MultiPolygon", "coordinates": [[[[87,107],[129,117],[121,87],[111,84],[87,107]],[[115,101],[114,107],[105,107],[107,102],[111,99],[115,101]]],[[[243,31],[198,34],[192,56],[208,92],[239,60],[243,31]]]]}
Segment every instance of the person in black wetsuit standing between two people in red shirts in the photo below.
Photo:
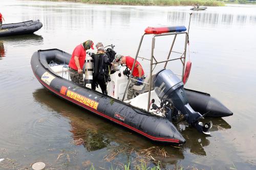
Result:
{"type": "Polygon", "coordinates": [[[113,65],[109,61],[108,56],[105,54],[104,48],[98,47],[97,54],[92,56],[94,59],[94,72],[93,72],[93,83],[92,89],[96,89],[97,84],[99,84],[103,94],[108,95],[106,92],[106,78],[108,72],[106,71],[108,65],[113,65]]]}

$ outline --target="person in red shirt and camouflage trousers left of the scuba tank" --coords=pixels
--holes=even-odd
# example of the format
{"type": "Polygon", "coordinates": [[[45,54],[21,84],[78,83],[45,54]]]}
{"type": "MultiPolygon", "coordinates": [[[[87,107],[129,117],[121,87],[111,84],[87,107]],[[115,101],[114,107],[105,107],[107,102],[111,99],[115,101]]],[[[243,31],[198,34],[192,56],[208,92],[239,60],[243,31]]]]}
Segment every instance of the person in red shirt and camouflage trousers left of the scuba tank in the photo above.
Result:
{"type": "Polygon", "coordinates": [[[86,59],[86,51],[90,48],[94,50],[93,41],[87,40],[77,45],[72,53],[72,57],[69,62],[69,73],[71,81],[74,83],[84,85],[82,68],[84,60],[86,59]]]}

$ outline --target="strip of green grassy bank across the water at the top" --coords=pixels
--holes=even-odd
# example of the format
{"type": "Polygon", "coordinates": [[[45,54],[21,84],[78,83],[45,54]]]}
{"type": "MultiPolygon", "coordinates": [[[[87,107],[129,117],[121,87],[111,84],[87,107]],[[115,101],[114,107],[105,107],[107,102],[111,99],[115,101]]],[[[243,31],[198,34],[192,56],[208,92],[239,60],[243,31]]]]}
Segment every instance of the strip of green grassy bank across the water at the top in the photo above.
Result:
{"type": "Polygon", "coordinates": [[[131,5],[131,6],[225,6],[224,2],[220,1],[204,1],[204,0],[37,0],[37,1],[52,1],[52,2],[73,2],[84,4],[101,4],[101,5],[131,5]]]}

